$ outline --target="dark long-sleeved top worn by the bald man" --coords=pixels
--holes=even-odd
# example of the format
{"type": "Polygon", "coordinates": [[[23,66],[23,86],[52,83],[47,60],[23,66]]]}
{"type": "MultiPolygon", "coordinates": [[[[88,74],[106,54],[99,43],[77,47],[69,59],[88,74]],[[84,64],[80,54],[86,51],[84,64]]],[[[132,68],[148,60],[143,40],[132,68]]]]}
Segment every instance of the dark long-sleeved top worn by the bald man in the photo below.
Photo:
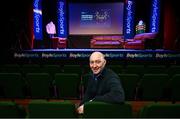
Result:
{"type": "Polygon", "coordinates": [[[84,98],[80,105],[91,100],[108,103],[124,102],[124,90],[118,75],[107,68],[104,68],[98,76],[91,74],[84,98]]]}

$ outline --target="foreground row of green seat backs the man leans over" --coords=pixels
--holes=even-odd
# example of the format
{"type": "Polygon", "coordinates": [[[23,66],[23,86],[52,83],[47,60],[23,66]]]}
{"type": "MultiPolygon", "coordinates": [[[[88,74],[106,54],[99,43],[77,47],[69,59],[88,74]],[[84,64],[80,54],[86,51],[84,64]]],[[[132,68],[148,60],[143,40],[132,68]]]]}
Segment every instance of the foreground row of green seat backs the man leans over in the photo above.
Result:
{"type": "MultiPolygon", "coordinates": [[[[88,102],[84,114],[76,113],[76,105],[69,101],[32,100],[27,108],[13,101],[0,102],[0,118],[133,118],[132,104],[88,102]]],[[[149,103],[137,113],[138,118],[179,118],[180,104],[149,103]]]]}

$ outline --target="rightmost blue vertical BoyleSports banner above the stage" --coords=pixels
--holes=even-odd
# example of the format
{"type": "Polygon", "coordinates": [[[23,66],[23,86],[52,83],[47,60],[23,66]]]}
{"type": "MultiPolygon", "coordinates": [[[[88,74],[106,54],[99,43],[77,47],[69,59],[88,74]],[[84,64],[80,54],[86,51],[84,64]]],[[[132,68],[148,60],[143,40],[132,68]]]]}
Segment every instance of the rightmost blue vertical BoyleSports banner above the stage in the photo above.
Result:
{"type": "Polygon", "coordinates": [[[160,0],[152,1],[151,8],[151,20],[150,20],[150,32],[159,31],[159,20],[160,20],[160,0]]]}

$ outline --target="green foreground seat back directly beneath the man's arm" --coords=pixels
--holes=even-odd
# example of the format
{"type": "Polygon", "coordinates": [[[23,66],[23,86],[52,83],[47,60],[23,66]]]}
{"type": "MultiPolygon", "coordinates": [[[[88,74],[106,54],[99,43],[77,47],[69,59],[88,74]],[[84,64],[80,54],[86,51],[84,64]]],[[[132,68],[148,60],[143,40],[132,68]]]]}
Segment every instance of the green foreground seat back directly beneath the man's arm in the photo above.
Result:
{"type": "Polygon", "coordinates": [[[111,104],[88,102],[84,105],[84,118],[130,118],[132,107],[129,103],[111,104]]]}

